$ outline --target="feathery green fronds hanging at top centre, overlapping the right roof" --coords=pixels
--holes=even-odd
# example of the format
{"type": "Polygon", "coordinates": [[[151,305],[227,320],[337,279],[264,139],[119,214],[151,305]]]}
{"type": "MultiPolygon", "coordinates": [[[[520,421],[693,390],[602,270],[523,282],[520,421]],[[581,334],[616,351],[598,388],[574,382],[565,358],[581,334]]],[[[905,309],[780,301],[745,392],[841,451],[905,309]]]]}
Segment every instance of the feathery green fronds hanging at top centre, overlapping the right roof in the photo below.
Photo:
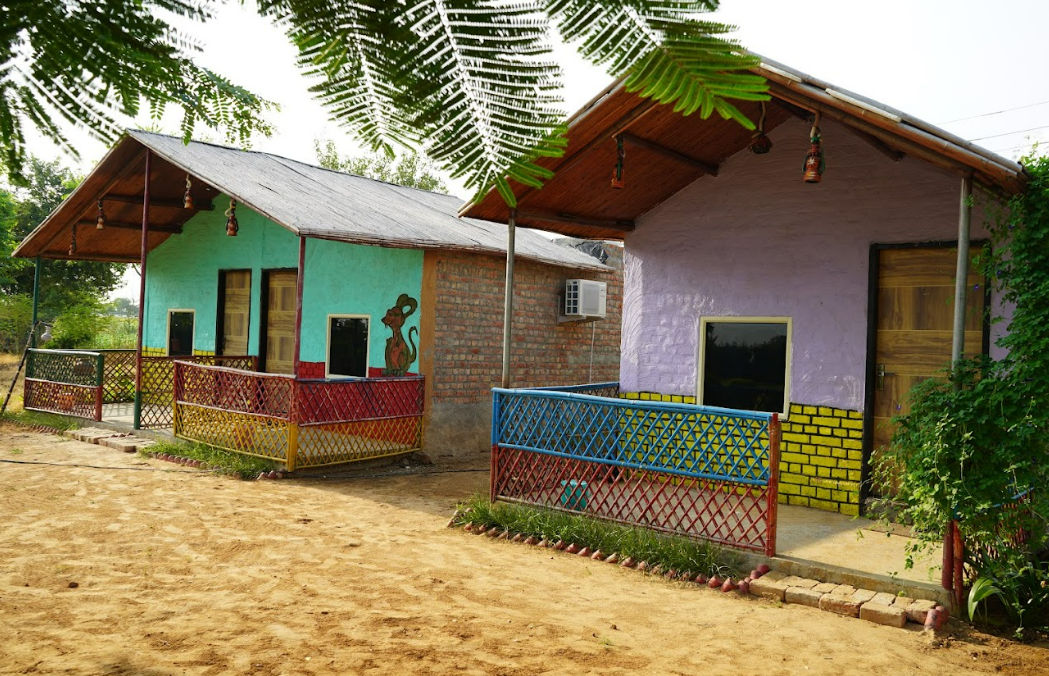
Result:
{"type": "Polygon", "coordinates": [[[730,102],[765,99],[755,63],[702,21],[715,0],[261,0],[287,26],[300,64],[334,118],[374,150],[425,149],[481,193],[515,204],[513,178],[538,187],[536,164],[559,155],[561,72],[551,61],[559,33],[627,90],[701,115],[752,127],[730,102]]]}

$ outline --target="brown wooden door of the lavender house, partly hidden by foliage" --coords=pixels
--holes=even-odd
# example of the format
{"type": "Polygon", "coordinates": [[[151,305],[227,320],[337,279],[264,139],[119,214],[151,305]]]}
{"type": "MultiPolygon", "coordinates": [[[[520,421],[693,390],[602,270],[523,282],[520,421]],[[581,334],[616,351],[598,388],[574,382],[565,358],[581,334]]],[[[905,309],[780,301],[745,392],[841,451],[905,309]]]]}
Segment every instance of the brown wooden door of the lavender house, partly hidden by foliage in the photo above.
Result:
{"type": "MultiPolygon", "coordinates": [[[[973,245],[972,255],[980,252],[973,245]]],[[[878,255],[878,294],[874,360],[872,460],[893,437],[893,416],[907,413],[907,393],[950,364],[958,249],[882,249],[878,255]]],[[[986,288],[969,263],[965,308],[965,354],[985,350],[986,288]]],[[[891,486],[873,486],[885,494],[891,486]]]]}

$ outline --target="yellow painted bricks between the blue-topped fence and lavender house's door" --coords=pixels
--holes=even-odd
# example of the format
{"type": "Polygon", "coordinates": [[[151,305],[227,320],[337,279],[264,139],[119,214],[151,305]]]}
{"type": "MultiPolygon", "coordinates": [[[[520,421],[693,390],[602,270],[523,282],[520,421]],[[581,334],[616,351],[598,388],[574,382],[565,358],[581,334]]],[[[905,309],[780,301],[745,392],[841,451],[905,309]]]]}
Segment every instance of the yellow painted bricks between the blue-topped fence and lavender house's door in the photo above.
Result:
{"type": "Polygon", "coordinates": [[[863,415],[830,406],[790,405],[779,448],[779,502],[859,513],[863,415]]]}

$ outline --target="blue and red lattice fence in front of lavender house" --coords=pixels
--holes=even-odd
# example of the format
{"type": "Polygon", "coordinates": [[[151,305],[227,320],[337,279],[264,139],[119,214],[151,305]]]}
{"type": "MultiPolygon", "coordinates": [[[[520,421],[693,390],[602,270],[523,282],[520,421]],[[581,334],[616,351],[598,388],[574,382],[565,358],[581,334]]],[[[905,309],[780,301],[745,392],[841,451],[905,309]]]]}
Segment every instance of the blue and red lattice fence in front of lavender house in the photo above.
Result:
{"type": "Polygon", "coordinates": [[[493,500],[774,554],[775,414],[625,401],[615,383],[493,393],[493,500]]]}

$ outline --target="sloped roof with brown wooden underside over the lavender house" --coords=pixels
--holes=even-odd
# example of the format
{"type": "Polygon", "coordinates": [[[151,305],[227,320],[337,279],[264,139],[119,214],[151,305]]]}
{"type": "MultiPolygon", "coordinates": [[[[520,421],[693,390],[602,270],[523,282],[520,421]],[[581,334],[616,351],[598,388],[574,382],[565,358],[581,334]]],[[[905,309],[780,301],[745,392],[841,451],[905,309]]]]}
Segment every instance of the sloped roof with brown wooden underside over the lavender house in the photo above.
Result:
{"type": "MultiPolygon", "coordinates": [[[[765,130],[819,113],[834,120],[892,160],[904,155],[958,175],[971,175],[996,192],[1012,194],[1026,182],[1023,167],[913,115],[817,80],[782,63],[759,59],[751,71],[769,83],[765,130]]],[[[757,102],[733,102],[751,120],[757,102]]],[[[560,157],[537,163],[555,172],[542,189],[510,182],[517,196],[517,225],[575,237],[622,239],[643,213],[744,150],[751,133],[714,114],[684,117],[673,106],[642,99],[617,81],[569,120],[569,143],[560,157]],[[625,185],[609,189],[616,139],[625,143],[625,185]]],[[[773,150],[775,152],[775,150],[773,150]]],[[[800,166],[800,159],[798,160],[800,166]]],[[[506,223],[508,209],[494,190],[459,213],[506,223]]]]}

